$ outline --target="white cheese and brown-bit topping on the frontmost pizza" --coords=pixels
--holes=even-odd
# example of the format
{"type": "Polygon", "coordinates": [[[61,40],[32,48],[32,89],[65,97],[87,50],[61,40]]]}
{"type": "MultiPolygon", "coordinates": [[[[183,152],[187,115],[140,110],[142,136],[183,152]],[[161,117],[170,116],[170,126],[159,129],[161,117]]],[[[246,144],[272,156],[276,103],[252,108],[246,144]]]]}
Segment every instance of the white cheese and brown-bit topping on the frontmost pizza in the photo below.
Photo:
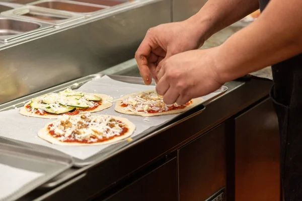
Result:
{"type": "Polygon", "coordinates": [[[120,136],[126,125],[111,116],[85,113],[76,116],[63,115],[49,128],[54,137],[64,141],[94,143],[120,136]]]}

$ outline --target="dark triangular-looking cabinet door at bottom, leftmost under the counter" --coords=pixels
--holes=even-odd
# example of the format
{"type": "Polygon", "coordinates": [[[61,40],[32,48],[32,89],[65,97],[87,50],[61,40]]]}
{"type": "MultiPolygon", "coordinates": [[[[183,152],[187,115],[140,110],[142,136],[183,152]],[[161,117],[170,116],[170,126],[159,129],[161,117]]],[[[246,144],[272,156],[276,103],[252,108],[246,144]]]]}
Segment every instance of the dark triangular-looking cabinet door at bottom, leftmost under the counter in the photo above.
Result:
{"type": "Polygon", "coordinates": [[[175,157],[116,192],[106,201],[177,201],[177,188],[177,158],[175,157]]]}

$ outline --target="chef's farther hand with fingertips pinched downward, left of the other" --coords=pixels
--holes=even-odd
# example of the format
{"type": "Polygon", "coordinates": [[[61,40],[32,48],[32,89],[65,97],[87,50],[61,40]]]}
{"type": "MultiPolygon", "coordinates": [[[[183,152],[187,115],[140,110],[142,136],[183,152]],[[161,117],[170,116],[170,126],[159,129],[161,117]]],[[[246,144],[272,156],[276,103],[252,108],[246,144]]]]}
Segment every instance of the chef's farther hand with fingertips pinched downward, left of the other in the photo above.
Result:
{"type": "Polygon", "coordinates": [[[203,34],[191,19],[159,25],[147,31],[135,53],[140,75],[145,84],[157,82],[157,65],[172,55],[197,49],[204,43],[203,34]],[[151,77],[152,76],[152,77],[151,77]]]}

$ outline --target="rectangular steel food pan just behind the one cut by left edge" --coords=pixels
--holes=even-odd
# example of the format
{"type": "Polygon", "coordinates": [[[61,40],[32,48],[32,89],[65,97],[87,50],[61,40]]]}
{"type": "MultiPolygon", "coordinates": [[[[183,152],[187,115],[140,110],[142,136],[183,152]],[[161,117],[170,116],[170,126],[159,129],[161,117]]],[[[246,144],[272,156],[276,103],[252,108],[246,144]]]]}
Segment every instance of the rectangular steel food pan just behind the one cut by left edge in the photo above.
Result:
{"type": "Polygon", "coordinates": [[[84,15],[71,12],[61,12],[35,6],[25,6],[1,13],[2,16],[42,22],[54,26],[65,25],[74,21],[85,19],[84,15]]]}

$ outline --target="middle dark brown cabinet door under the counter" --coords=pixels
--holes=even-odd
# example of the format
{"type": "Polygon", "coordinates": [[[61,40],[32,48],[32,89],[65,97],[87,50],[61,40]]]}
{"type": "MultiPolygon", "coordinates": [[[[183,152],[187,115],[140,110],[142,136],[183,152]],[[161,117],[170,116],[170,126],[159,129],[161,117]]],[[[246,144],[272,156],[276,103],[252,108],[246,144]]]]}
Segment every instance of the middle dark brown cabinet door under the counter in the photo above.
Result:
{"type": "Polygon", "coordinates": [[[225,174],[225,124],[221,124],[179,150],[180,201],[209,198],[225,186],[225,174]]]}

